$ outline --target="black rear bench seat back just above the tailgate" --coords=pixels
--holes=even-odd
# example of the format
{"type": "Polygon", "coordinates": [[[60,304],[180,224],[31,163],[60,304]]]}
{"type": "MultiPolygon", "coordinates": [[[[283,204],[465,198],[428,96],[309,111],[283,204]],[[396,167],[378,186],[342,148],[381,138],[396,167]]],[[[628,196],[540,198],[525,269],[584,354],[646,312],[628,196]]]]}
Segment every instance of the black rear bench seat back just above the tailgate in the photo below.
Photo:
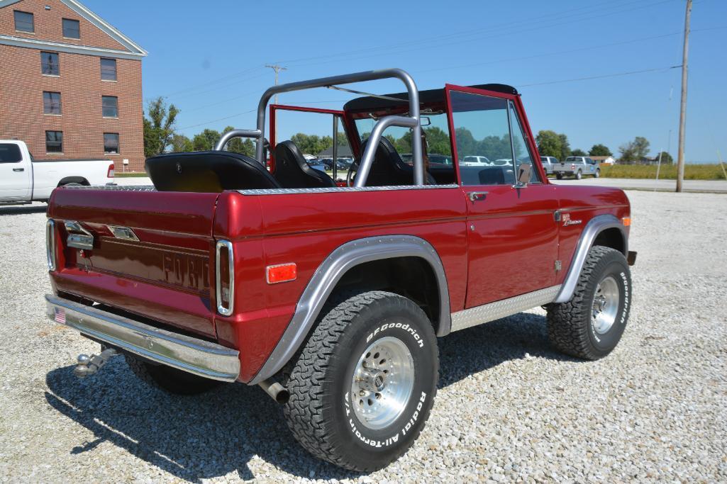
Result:
{"type": "Polygon", "coordinates": [[[169,153],[148,158],[146,172],[162,192],[214,193],[280,188],[265,166],[230,151],[169,153]]]}

